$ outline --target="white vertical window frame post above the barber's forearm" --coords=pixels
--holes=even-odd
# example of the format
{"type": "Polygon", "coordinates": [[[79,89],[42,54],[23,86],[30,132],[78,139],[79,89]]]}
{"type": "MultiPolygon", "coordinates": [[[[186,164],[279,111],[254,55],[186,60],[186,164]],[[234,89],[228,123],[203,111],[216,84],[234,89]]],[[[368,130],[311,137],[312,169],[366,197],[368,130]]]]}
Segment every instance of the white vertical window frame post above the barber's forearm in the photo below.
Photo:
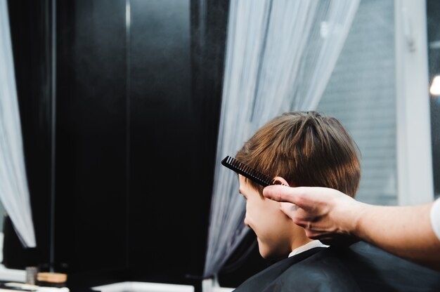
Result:
{"type": "Polygon", "coordinates": [[[395,0],[394,25],[397,197],[424,204],[434,199],[425,1],[395,0]]]}

